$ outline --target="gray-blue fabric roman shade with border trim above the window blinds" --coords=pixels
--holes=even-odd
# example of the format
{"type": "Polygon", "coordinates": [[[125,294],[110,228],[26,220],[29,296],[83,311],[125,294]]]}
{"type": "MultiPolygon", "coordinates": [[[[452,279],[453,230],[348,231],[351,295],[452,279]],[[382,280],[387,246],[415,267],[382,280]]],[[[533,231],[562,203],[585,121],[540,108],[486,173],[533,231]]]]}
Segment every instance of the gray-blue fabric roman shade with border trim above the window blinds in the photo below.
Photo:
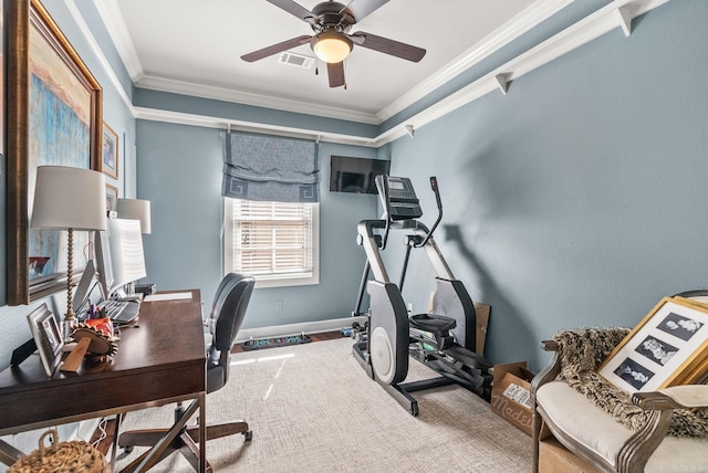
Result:
{"type": "Polygon", "coordinates": [[[227,133],[221,195],[244,200],[319,202],[317,144],[227,133]]]}

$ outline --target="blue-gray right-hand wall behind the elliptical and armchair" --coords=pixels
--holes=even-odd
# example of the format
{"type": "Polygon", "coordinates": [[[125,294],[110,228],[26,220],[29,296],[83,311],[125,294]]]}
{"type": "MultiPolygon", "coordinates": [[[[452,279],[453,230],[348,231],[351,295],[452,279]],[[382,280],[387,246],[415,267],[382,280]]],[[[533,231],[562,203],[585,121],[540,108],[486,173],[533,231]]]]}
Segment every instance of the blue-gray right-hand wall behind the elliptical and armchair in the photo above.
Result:
{"type": "MultiPolygon", "coordinates": [[[[429,222],[438,177],[436,241],[492,306],[492,361],[539,369],[556,329],[634,326],[708,285],[707,19],[708,2],[669,2],[387,150],[429,222]]],[[[404,291],[416,308],[434,288],[419,256],[404,291]]]]}

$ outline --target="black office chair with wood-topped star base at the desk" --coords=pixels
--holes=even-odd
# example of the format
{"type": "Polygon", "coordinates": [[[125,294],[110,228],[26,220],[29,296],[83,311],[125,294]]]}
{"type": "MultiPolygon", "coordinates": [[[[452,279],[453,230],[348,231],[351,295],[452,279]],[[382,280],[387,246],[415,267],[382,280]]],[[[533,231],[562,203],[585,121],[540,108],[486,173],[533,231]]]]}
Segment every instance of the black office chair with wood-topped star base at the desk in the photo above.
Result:
{"type": "MultiPolygon", "coordinates": [[[[243,323],[246,308],[253,292],[254,280],[252,276],[230,273],[227,274],[217,288],[209,317],[211,326],[211,345],[207,351],[207,393],[221,389],[229,379],[229,358],[231,346],[236,335],[243,323]]],[[[179,419],[184,412],[181,403],[177,406],[175,419],[179,419]]],[[[118,445],[126,452],[131,452],[133,446],[155,445],[168,429],[149,429],[124,432],[118,438],[118,445]]],[[[207,440],[218,439],[235,433],[242,433],[246,441],[250,441],[253,433],[243,420],[236,420],[228,423],[207,425],[207,440]]],[[[199,469],[198,446],[194,439],[199,438],[199,427],[186,427],[175,438],[158,462],[178,450],[189,463],[199,469]]],[[[204,448],[205,445],[201,445],[204,448]]],[[[149,452],[149,451],[148,451],[149,452]]],[[[124,471],[133,471],[148,454],[145,452],[133,461],[124,471]]],[[[211,467],[207,465],[207,470],[211,467]]]]}

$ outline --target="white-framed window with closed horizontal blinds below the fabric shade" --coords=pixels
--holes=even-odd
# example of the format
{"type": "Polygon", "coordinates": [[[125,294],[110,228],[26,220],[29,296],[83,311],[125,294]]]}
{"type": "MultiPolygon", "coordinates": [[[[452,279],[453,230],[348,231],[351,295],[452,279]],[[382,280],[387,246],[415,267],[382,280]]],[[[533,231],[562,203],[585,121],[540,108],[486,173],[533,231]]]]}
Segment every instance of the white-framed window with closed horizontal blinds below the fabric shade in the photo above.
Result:
{"type": "Polygon", "coordinates": [[[317,284],[317,203],[225,198],[223,263],[260,287],[317,284]]]}

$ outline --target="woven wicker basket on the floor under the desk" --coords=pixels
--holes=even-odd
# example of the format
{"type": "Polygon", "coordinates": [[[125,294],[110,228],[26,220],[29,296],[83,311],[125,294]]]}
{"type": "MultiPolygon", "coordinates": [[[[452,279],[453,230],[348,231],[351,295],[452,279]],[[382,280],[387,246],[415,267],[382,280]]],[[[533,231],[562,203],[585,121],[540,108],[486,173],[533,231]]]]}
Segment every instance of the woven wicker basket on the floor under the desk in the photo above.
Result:
{"type": "Polygon", "coordinates": [[[111,465],[103,453],[82,441],[56,442],[56,430],[51,429],[40,437],[40,446],[32,453],[22,456],[8,473],[29,472],[87,472],[110,473],[111,465]],[[46,435],[52,435],[52,444],[44,446],[46,435]]]}

